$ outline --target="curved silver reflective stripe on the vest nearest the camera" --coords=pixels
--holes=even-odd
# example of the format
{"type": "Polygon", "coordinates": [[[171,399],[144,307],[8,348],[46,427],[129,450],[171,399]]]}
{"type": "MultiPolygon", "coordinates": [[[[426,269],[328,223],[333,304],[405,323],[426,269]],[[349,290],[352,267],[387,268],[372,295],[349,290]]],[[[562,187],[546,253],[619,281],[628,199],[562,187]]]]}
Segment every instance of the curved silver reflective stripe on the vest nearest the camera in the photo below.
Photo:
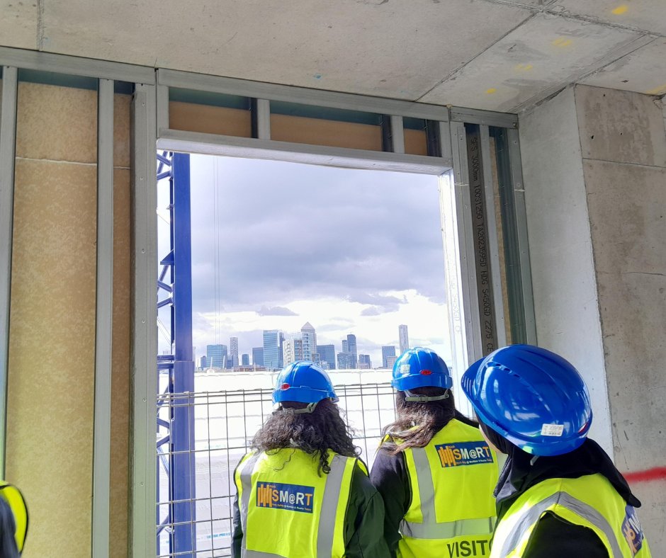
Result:
{"type": "Polygon", "coordinates": [[[622,556],[622,552],[618,546],[617,537],[615,536],[615,531],[611,525],[609,525],[608,521],[606,521],[606,518],[589,504],[574,498],[571,494],[566,492],[555,492],[552,496],[548,496],[548,498],[543,499],[534,504],[534,506],[531,506],[531,508],[528,508],[507,535],[507,538],[504,540],[504,545],[502,545],[502,552],[499,552],[499,556],[508,556],[509,552],[514,550],[520,544],[526,530],[528,530],[531,525],[534,525],[534,523],[538,521],[538,518],[541,517],[541,514],[548,511],[548,508],[555,503],[567,508],[573,513],[577,513],[580,517],[587,519],[589,523],[592,523],[592,525],[599,528],[608,539],[611,550],[613,551],[613,557],[619,558],[622,556]]]}

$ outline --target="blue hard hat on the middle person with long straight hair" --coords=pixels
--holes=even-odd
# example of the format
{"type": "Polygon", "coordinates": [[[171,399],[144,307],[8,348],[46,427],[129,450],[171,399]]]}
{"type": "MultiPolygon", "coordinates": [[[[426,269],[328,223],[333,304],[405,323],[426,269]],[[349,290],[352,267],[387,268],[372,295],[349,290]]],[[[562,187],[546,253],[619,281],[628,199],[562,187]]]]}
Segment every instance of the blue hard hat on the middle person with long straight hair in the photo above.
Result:
{"type": "Polygon", "coordinates": [[[437,353],[428,348],[414,347],[407,349],[395,361],[391,385],[400,392],[429,386],[449,389],[453,378],[437,353]]]}

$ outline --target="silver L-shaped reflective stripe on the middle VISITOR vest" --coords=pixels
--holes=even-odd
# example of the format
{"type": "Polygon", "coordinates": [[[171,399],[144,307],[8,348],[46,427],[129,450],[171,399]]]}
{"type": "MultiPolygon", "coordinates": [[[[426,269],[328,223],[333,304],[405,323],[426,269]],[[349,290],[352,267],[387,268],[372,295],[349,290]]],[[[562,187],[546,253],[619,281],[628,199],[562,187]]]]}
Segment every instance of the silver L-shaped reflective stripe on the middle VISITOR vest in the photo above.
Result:
{"type": "Polygon", "coordinates": [[[400,533],[414,539],[450,539],[460,535],[491,535],[495,518],[461,519],[437,523],[435,512],[435,486],[432,480],[430,462],[424,448],[412,448],[414,465],[417,469],[419,496],[423,523],[400,522],[400,533]]]}

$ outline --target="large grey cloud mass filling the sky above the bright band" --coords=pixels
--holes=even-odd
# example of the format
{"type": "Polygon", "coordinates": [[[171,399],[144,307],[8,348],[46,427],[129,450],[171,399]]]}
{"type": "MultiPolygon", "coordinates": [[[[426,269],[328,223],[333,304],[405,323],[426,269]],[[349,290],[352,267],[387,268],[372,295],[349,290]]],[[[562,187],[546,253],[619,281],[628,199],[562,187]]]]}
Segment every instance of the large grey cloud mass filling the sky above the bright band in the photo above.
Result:
{"type": "Polygon", "coordinates": [[[443,296],[436,178],[214,161],[192,158],[195,307],[404,289],[443,296]]]}

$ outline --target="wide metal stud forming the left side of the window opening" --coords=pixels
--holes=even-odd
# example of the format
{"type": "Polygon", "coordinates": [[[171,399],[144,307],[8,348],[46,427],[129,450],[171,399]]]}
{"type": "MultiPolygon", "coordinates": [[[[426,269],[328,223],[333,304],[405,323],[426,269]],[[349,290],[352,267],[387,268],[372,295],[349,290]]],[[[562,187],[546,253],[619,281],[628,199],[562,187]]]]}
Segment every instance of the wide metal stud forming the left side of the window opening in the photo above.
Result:
{"type": "Polygon", "coordinates": [[[155,87],[132,100],[132,556],[156,552],[155,398],[157,394],[157,163],[155,87]]]}

